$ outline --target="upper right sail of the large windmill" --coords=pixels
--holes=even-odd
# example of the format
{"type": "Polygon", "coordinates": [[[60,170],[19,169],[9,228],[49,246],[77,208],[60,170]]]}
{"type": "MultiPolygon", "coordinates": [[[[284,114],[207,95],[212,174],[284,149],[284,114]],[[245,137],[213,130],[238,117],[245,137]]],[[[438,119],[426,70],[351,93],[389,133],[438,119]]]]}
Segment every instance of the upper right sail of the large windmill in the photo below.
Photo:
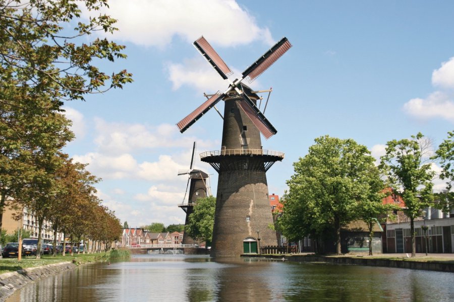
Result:
{"type": "Polygon", "coordinates": [[[251,66],[246,68],[243,72],[243,78],[248,77],[248,82],[254,81],[263,71],[268,69],[278,58],[280,58],[287,50],[292,47],[289,40],[283,37],[273,47],[271,47],[265,54],[263,54],[251,66]]]}

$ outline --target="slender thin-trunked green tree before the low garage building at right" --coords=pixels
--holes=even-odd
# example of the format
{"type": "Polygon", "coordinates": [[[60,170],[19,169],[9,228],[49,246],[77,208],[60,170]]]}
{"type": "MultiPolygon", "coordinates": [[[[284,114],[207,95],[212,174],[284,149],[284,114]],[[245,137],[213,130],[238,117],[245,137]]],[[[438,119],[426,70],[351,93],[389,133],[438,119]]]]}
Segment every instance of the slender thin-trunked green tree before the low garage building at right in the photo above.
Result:
{"type": "Polygon", "coordinates": [[[416,256],[414,220],[432,200],[432,179],[429,157],[430,141],[421,133],[411,139],[390,140],[386,143],[386,154],[381,157],[380,169],[394,190],[405,202],[404,213],[410,218],[412,257],[416,256]]]}

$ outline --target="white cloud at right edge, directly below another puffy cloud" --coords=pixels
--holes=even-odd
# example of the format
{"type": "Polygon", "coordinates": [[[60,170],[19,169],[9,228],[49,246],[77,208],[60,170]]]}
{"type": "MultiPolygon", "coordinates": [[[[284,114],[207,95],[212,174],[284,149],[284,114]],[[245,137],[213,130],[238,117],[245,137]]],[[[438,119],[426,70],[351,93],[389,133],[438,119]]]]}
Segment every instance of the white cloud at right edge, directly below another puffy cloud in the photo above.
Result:
{"type": "Polygon", "coordinates": [[[452,96],[436,91],[426,99],[411,99],[404,104],[404,110],[415,117],[428,119],[441,117],[454,122],[454,101],[452,96]]]}

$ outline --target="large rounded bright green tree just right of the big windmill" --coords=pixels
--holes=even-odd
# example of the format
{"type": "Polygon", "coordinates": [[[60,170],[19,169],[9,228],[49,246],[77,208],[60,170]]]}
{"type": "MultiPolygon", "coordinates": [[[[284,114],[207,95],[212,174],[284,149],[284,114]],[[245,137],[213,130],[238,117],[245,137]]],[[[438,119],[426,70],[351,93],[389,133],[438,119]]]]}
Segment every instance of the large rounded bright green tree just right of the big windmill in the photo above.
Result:
{"type": "Polygon", "coordinates": [[[374,158],[353,139],[325,135],[315,139],[294,169],[278,222],[282,234],[296,240],[334,233],[341,254],[341,227],[360,218],[362,205],[379,187],[374,158]]]}

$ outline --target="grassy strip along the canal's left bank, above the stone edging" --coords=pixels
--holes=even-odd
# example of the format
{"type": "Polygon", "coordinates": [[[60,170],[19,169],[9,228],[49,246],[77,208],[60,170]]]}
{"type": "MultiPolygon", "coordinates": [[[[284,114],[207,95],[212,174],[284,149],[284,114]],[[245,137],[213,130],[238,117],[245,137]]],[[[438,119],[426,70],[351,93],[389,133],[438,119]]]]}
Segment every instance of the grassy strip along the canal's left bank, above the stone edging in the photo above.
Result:
{"type": "Polygon", "coordinates": [[[41,259],[36,259],[34,256],[27,256],[22,257],[21,261],[18,261],[17,258],[3,258],[0,259],[0,274],[67,261],[72,261],[76,265],[84,265],[95,262],[128,259],[129,257],[129,250],[111,250],[110,253],[74,254],[73,256],[68,254],[65,256],[56,255],[55,257],[52,255],[41,255],[41,259]]]}

